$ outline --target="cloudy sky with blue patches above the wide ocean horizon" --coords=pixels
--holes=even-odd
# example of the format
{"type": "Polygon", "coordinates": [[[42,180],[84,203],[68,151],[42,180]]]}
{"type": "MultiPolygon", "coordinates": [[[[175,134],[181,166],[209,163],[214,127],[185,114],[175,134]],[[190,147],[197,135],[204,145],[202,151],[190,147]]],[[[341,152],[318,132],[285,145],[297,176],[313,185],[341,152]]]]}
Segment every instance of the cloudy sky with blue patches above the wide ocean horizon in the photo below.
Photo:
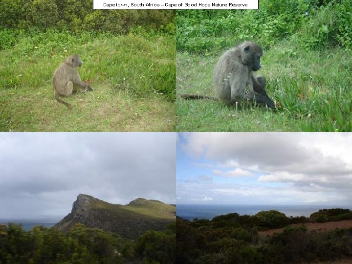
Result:
{"type": "Polygon", "coordinates": [[[177,204],[352,207],[352,133],[179,133],[177,204]]]}

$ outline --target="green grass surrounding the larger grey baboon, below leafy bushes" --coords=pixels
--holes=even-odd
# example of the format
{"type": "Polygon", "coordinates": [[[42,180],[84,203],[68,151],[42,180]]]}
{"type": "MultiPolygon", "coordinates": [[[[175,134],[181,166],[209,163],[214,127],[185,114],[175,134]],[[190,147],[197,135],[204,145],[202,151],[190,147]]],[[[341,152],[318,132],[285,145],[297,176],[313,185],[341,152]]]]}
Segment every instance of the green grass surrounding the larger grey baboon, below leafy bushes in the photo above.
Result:
{"type": "MultiPolygon", "coordinates": [[[[177,95],[214,96],[213,68],[220,55],[177,52],[177,95]]],[[[279,106],[276,111],[177,96],[176,131],[351,131],[351,65],[351,53],[341,48],[305,51],[288,41],[277,43],[264,50],[258,72],[267,78],[267,93],[279,106]]]]}

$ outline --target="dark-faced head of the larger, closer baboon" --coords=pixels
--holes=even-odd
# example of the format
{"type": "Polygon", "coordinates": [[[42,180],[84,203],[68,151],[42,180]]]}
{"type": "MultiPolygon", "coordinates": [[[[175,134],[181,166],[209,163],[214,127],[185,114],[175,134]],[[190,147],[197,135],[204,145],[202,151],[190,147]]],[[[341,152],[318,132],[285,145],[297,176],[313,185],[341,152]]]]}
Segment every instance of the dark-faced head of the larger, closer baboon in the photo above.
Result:
{"type": "Polygon", "coordinates": [[[247,65],[249,69],[253,71],[259,70],[262,66],[260,65],[260,58],[263,55],[263,50],[260,46],[254,42],[245,41],[240,45],[242,49],[241,59],[244,65],[247,65]]]}

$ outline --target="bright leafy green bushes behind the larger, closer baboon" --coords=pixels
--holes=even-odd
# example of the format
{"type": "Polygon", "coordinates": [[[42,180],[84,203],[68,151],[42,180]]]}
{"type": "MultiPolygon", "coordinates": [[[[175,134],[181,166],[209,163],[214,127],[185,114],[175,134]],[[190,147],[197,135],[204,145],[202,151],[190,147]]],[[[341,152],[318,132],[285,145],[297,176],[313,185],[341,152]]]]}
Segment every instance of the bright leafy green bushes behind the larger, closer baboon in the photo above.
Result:
{"type": "MultiPolygon", "coordinates": [[[[178,10],[177,50],[214,51],[257,38],[264,47],[286,39],[305,50],[336,45],[352,49],[351,0],[259,4],[258,10],[178,10]]],[[[288,55],[295,53],[290,50],[288,55]]]]}

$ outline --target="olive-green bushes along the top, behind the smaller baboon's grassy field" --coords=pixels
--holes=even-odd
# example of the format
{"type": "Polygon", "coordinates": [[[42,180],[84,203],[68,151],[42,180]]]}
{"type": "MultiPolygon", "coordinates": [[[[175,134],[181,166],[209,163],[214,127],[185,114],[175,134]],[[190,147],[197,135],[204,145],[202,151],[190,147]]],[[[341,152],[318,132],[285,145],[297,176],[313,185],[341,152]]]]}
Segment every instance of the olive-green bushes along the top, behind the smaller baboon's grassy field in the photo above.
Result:
{"type": "Polygon", "coordinates": [[[69,28],[74,32],[105,31],[126,34],[139,28],[172,32],[174,10],[92,9],[93,0],[2,0],[0,27],[44,30],[69,28]]]}

